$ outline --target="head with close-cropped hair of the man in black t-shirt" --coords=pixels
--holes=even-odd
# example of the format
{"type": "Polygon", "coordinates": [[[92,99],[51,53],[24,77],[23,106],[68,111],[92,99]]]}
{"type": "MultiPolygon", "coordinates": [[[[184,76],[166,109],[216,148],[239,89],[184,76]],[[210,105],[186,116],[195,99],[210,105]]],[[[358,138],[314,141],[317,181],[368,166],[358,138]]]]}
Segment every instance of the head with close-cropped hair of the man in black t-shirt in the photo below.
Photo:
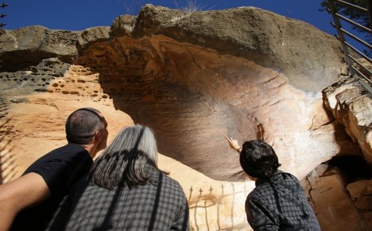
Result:
{"type": "Polygon", "coordinates": [[[95,151],[103,150],[107,145],[107,121],[94,108],[80,108],[66,121],[66,139],[69,143],[87,145],[94,143],[95,151]]]}

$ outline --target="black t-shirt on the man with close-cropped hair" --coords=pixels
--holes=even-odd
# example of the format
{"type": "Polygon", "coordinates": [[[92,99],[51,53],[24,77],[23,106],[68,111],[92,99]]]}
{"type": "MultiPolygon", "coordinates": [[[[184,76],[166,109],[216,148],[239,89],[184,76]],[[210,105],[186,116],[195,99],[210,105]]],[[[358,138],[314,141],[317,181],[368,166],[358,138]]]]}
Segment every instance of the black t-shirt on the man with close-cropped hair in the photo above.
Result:
{"type": "Polygon", "coordinates": [[[69,143],[32,163],[24,174],[35,172],[43,177],[50,198],[21,211],[10,230],[43,230],[72,185],[90,170],[93,160],[82,145],[69,143]]]}

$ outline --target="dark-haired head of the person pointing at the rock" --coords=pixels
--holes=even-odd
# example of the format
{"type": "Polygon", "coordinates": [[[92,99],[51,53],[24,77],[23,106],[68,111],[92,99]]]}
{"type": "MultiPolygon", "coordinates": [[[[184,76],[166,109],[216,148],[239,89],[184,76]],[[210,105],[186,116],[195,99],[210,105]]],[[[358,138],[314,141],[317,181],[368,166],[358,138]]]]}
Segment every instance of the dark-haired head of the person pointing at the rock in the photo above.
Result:
{"type": "Polygon", "coordinates": [[[273,148],[264,141],[246,141],[240,152],[240,165],[250,177],[270,177],[278,170],[280,163],[273,148]]]}

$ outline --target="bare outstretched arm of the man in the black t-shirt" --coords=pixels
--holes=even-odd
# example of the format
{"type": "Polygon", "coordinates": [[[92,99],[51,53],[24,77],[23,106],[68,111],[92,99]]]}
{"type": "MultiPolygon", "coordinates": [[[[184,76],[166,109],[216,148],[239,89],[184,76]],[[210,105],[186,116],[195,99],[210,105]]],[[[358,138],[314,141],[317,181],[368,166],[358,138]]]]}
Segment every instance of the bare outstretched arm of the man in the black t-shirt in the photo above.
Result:
{"type": "Polygon", "coordinates": [[[43,177],[34,172],[0,185],[0,231],[10,229],[18,212],[49,197],[48,185],[43,177]]]}

